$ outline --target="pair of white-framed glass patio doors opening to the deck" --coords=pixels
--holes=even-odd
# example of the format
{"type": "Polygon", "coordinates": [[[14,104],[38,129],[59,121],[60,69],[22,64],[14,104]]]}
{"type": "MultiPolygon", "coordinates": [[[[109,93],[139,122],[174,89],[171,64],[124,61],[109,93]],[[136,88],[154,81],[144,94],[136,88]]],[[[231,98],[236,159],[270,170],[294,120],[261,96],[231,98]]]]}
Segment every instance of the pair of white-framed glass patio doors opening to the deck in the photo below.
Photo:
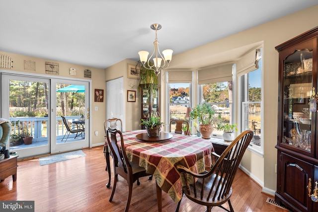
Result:
{"type": "Polygon", "coordinates": [[[18,139],[22,130],[28,131],[32,139],[26,144],[22,139],[10,139],[10,151],[19,158],[70,151],[89,146],[89,82],[45,77],[1,73],[1,117],[10,120],[11,134],[18,139]],[[79,91],[59,92],[58,89],[76,85],[79,91]],[[62,117],[72,121],[84,118],[85,132],[70,134],[62,117]],[[76,137],[77,136],[77,137],[76,137]],[[65,137],[65,138],[66,138],[65,137]],[[76,138],[75,138],[76,137],[76,138]]]}

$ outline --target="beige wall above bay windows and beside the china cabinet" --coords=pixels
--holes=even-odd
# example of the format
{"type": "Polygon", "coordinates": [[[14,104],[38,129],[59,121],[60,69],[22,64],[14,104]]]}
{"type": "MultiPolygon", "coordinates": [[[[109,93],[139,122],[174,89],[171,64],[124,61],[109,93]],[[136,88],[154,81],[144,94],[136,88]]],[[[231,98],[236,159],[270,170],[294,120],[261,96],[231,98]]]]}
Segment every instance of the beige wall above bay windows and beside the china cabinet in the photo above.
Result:
{"type": "MultiPolygon", "coordinates": [[[[265,191],[276,191],[275,164],[277,163],[277,151],[275,145],[277,142],[278,53],[275,46],[316,26],[318,26],[318,5],[174,55],[170,65],[170,68],[174,66],[180,68],[183,64],[190,66],[191,61],[202,60],[202,58],[211,59],[214,55],[222,54],[231,49],[264,42],[263,111],[265,115],[262,131],[264,157],[247,151],[242,160],[242,165],[256,181],[261,185],[263,184],[265,191]]],[[[164,98],[162,100],[164,101],[164,98]]]]}

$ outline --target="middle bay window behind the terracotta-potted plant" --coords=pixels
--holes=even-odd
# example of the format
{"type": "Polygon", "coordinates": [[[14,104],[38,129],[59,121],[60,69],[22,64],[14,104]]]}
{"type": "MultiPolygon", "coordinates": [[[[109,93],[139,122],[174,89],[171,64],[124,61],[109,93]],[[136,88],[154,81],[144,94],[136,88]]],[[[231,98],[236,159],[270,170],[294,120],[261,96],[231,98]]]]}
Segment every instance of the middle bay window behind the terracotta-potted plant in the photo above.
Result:
{"type": "MultiPolygon", "coordinates": [[[[202,85],[202,101],[213,105],[216,114],[221,115],[222,123],[232,124],[233,82],[216,82],[202,85]]],[[[223,131],[213,130],[213,136],[222,137],[223,131]]]]}

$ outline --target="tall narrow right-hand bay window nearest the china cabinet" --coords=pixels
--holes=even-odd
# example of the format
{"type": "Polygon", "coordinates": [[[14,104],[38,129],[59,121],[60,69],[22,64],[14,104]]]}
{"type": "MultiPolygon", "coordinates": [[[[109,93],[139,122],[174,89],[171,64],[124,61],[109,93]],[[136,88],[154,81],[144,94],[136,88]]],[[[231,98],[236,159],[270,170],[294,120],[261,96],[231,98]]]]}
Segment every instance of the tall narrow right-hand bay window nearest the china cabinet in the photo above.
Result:
{"type": "Polygon", "coordinates": [[[260,50],[256,51],[255,69],[239,74],[241,132],[250,129],[254,132],[251,149],[263,153],[262,146],[262,61],[260,50]]]}

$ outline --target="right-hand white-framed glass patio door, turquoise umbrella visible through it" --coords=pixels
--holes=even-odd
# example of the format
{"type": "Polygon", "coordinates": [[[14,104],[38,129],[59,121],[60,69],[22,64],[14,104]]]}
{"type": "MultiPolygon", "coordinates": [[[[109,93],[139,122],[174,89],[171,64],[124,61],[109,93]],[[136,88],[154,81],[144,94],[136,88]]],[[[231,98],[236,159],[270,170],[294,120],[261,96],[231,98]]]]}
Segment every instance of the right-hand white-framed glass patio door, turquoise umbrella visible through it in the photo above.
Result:
{"type": "Polygon", "coordinates": [[[85,81],[52,79],[52,103],[50,108],[51,125],[55,130],[51,132],[51,153],[70,151],[89,147],[89,83],[85,81]],[[66,124],[62,117],[66,119],[66,124]],[[83,120],[84,123],[75,124],[83,120]],[[84,129],[84,133],[70,133],[70,129],[84,129]]]}

